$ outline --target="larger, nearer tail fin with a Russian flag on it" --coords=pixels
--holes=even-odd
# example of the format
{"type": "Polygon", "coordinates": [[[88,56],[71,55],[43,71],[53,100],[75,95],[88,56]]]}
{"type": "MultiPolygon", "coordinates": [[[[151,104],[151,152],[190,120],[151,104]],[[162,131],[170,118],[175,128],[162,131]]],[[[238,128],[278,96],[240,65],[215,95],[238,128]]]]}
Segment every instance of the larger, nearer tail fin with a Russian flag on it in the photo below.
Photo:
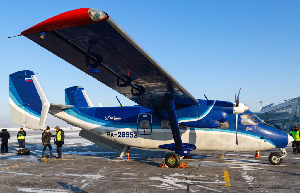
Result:
{"type": "Polygon", "coordinates": [[[9,75],[9,106],[13,123],[29,129],[44,129],[50,103],[32,71],[9,75]]]}

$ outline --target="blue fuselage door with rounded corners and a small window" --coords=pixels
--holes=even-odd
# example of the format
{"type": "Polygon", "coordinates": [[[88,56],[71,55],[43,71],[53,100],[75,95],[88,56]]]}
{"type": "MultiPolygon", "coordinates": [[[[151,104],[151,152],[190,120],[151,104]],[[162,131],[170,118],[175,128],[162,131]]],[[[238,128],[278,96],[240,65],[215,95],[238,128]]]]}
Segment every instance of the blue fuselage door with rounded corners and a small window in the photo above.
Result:
{"type": "Polygon", "coordinates": [[[152,115],[149,113],[139,114],[137,117],[137,132],[140,135],[150,135],[152,133],[152,115]]]}

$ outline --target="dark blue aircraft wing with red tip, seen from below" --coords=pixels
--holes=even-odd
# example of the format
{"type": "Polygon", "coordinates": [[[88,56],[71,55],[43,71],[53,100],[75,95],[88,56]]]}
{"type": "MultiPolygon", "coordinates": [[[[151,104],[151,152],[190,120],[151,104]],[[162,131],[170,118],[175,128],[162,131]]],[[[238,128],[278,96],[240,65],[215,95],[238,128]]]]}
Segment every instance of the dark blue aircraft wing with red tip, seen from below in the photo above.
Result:
{"type": "Polygon", "coordinates": [[[174,97],[176,108],[199,103],[99,10],[61,13],[21,34],[143,107],[165,108],[167,97],[174,97]]]}

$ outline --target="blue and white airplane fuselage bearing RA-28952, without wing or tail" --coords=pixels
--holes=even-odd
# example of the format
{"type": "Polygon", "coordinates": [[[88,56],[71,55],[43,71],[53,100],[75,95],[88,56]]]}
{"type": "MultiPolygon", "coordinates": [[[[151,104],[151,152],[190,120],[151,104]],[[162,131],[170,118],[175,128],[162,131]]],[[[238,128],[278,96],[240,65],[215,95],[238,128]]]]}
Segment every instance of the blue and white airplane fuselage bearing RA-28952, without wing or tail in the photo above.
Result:
{"type": "MultiPolygon", "coordinates": [[[[161,127],[161,124],[164,124],[162,121],[166,121],[166,119],[160,116],[158,112],[141,106],[74,107],[67,110],[52,109],[49,110],[49,113],[81,129],[97,132],[101,138],[128,146],[158,149],[160,145],[174,142],[171,129],[161,127]],[[149,121],[149,128],[141,128],[140,123],[143,120],[149,121]]],[[[243,114],[253,116],[251,111],[246,111],[243,114]]],[[[240,115],[238,119],[238,145],[235,144],[235,114],[227,115],[229,122],[227,129],[180,128],[182,142],[195,145],[196,150],[224,151],[283,148],[290,142],[289,135],[285,132],[270,127],[259,120],[256,120],[257,125],[241,125],[240,115]]]]}

